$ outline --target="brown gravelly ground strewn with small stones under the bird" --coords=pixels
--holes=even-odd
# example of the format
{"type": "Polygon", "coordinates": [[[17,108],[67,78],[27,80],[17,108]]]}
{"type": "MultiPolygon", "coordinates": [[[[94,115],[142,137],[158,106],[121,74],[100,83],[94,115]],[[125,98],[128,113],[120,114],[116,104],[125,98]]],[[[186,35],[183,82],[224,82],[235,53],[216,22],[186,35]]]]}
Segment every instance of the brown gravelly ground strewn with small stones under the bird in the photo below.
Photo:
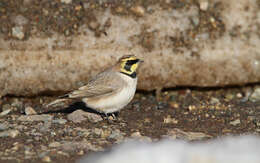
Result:
{"type": "Polygon", "coordinates": [[[257,86],[138,92],[113,120],[82,103],[44,108],[54,97],[0,101],[1,162],[74,162],[127,139],[203,141],[260,132],[257,86]],[[68,107],[67,107],[68,105],[68,107]]]}

